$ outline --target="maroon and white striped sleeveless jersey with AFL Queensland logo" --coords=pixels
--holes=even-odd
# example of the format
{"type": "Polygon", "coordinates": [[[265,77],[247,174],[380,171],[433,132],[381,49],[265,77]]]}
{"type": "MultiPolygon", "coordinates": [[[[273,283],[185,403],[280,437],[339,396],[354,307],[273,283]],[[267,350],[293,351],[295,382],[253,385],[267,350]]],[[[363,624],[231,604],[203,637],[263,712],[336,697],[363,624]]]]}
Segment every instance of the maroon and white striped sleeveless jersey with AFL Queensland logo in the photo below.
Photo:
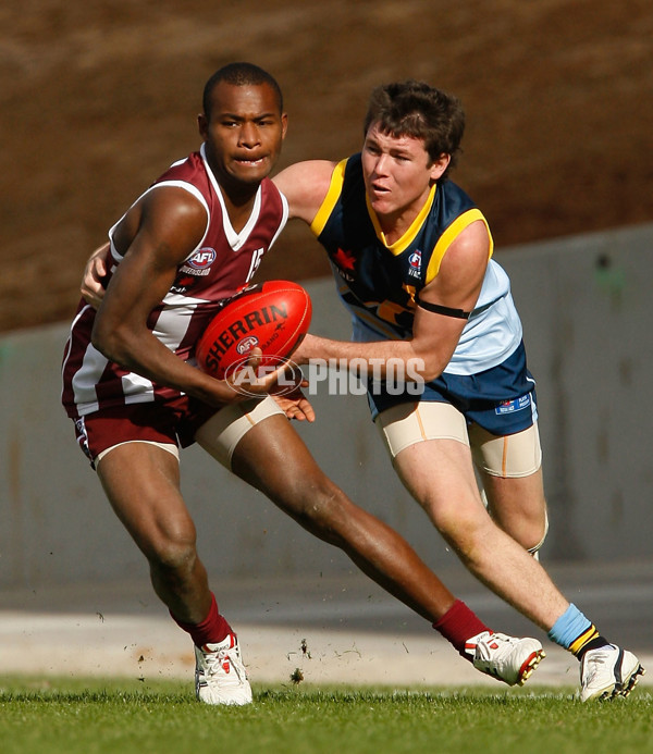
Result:
{"type": "MultiPolygon", "coordinates": [[[[150,330],[168,348],[193,362],[195,343],[220,302],[251,280],[283,230],[288,217],[287,201],[270,178],[263,180],[249,220],[236,233],[206,161],[204,145],[199,152],[173,163],[146,194],[160,186],[188,190],[207,211],[201,242],[178,265],[174,283],[148,320],[150,330]]],[[[113,245],[114,228],[115,225],[109,231],[109,276],[122,259],[113,245]]],[[[95,309],[82,299],[63,356],[62,403],[70,417],[76,419],[111,406],[178,395],[175,390],[122,369],[94,348],[90,333],[95,317],[95,309]]]]}

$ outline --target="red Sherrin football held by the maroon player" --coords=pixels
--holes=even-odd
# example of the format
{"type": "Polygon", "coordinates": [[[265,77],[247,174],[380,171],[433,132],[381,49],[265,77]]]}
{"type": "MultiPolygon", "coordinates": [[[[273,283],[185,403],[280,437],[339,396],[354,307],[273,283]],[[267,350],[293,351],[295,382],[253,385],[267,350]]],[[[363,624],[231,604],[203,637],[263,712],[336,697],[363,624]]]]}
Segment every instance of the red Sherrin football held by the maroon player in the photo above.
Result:
{"type": "Polygon", "coordinates": [[[279,366],[287,359],[308,332],[312,306],[297,283],[267,281],[245,288],[211,320],[197,342],[200,369],[224,379],[230,367],[246,363],[258,347],[261,363],[279,366]]]}

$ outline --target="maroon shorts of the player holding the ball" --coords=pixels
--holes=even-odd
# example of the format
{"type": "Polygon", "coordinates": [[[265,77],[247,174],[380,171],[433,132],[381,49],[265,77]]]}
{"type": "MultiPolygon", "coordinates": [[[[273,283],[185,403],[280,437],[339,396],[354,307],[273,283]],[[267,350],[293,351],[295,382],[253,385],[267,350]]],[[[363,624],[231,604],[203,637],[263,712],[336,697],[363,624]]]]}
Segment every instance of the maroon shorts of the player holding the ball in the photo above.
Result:
{"type": "Polygon", "coordinates": [[[183,395],[87,413],[75,419],[75,432],[93,466],[102,450],[120,443],[145,441],[187,447],[195,442],[197,430],[218,410],[183,395]]]}

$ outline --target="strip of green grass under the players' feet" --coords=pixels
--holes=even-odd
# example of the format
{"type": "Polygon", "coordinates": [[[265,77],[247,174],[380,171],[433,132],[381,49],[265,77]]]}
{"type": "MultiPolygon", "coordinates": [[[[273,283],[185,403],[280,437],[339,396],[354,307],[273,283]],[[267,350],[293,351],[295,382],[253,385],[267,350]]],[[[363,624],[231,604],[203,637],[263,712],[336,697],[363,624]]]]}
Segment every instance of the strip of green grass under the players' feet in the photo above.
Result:
{"type": "Polygon", "coordinates": [[[653,697],[575,689],[254,688],[248,707],[188,683],[0,678],[2,754],[600,754],[653,752],[653,697]]]}

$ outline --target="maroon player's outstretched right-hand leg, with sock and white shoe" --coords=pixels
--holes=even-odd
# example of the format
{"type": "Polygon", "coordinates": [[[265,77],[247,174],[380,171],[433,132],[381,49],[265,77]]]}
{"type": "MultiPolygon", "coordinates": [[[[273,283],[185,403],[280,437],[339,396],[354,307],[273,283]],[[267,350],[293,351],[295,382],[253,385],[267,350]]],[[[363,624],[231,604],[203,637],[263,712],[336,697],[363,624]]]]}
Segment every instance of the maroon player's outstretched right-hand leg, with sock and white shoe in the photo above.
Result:
{"type": "Polygon", "coordinates": [[[284,417],[239,441],[232,469],[320,539],[341,547],[378,584],[427,618],[481,672],[522,684],[544,656],[535,639],[493,633],[390,527],[354,505],[321,471],[284,417]]]}

